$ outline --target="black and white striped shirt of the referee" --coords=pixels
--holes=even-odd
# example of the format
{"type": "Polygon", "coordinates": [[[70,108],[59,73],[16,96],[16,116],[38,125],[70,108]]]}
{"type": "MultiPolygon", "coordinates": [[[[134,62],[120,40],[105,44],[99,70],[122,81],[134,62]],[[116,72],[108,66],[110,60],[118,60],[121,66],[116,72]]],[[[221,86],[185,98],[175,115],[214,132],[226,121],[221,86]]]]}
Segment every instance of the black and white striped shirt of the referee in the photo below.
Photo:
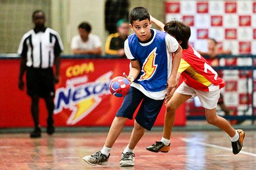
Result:
{"type": "Polygon", "coordinates": [[[18,54],[27,57],[26,65],[34,68],[52,67],[54,56],[62,51],[59,34],[50,28],[39,32],[30,30],[23,36],[18,47],[18,54]]]}

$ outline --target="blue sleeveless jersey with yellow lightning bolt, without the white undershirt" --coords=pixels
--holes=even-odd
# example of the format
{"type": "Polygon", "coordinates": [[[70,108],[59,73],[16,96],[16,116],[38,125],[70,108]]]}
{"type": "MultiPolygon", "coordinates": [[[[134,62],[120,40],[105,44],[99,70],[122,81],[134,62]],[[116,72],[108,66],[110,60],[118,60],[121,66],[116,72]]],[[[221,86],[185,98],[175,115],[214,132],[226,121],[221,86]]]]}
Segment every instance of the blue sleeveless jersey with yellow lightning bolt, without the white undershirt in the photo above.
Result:
{"type": "Polygon", "coordinates": [[[167,51],[166,33],[154,30],[150,42],[139,42],[136,34],[128,37],[129,48],[133,57],[139,61],[141,71],[135,79],[146,91],[157,92],[166,89],[167,85],[167,51]]]}

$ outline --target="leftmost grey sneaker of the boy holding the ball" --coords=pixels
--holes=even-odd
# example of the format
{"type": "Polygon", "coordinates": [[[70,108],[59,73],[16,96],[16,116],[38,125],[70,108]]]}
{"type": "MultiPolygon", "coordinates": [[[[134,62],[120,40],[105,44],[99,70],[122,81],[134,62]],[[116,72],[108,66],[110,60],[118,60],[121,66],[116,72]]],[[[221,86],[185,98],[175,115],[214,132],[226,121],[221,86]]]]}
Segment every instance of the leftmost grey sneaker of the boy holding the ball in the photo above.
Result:
{"type": "Polygon", "coordinates": [[[87,163],[89,163],[90,165],[106,165],[108,164],[108,160],[109,160],[110,154],[109,156],[106,156],[104,154],[102,154],[100,151],[96,152],[93,155],[88,155],[83,157],[82,159],[84,161],[86,161],[87,163]]]}

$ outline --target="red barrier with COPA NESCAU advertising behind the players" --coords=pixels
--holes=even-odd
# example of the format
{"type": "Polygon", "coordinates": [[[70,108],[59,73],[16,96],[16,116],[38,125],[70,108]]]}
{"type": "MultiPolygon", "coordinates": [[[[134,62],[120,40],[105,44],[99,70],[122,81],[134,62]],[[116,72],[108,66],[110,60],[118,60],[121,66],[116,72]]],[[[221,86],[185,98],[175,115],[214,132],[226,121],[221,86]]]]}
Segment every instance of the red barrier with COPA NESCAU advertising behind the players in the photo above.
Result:
{"type": "MultiPolygon", "coordinates": [[[[30,98],[18,90],[18,59],[0,60],[0,127],[31,127],[30,98]]],[[[60,82],[56,85],[54,120],[56,126],[110,126],[122,98],[109,91],[110,80],[128,74],[127,59],[61,59],[60,82]]],[[[46,126],[47,110],[40,100],[40,125],[46,126]]],[[[162,126],[165,107],[155,126],[162,126]]],[[[185,106],[176,115],[175,125],[184,126],[185,106]]],[[[126,123],[133,125],[133,120],[126,123]]]]}

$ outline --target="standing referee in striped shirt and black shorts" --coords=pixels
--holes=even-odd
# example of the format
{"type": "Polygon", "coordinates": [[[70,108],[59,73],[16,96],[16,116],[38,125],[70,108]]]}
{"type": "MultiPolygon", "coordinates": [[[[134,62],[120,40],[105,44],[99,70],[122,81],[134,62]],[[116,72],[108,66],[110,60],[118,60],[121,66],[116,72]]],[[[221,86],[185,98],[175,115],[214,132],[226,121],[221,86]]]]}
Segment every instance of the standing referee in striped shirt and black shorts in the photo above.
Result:
{"type": "Polygon", "coordinates": [[[30,133],[30,137],[37,138],[41,137],[38,118],[39,98],[45,100],[48,110],[47,133],[53,134],[55,131],[54,83],[59,81],[60,53],[63,51],[63,45],[58,33],[45,27],[44,11],[34,11],[32,20],[34,29],[23,36],[18,47],[18,54],[21,57],[18,87],[24,90],[23,76],[26,71],[27,93],[31,98],[31,113],[34,121],[34,130],[30,133]],[[55,74],[53,65],[55,65],[55,74]]]}

